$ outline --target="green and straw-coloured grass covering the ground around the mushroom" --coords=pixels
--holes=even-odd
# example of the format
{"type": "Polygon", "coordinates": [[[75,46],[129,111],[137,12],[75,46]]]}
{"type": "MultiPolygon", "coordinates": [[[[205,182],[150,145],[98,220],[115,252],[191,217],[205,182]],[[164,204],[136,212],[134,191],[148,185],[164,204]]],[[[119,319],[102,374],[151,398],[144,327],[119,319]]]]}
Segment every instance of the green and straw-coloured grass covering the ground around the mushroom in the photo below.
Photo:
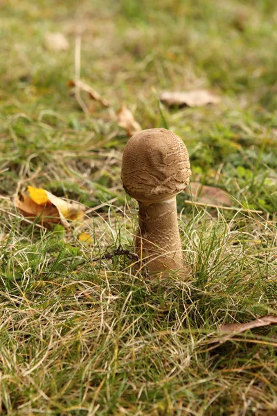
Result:
{"type": "Polygon", "coordinates": [[[211,343],[219,324],[276,313],[275,1],[0,9],[0,413],[275,415],[276,327],[211,343]],[[46,49],[47,31],[64,33],[69,50],[46,49]],[[91,116],[66,86],[80,33],[80,76],[111,102],[83,96],[91,116]],[[169,110],[157,98],[194,87],[222,103],[169,110]],[[179,195],[191,281],[134,276],[124,256],[93,261],[132,250],[136,205],[120,182],[127,137],[114,116],[123,103],[143,128],[184,138],[193,181],[234,198],[227,211],[179,195]],[[12,198],[28,184],[102,207],[71,234],[24,224],[12,198]]]}

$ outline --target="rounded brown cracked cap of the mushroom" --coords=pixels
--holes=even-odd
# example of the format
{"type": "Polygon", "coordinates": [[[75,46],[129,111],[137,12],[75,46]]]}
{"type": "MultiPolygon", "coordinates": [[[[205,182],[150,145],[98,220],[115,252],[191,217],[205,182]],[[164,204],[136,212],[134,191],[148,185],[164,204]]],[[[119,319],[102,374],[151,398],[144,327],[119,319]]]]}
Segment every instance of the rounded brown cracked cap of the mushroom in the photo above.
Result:
{"type": "Polygon", "coordinates": [[[123,188],[145,205],[177,195],[186,188],[190,174],[188,150],[169,130],[143,130],[127,141],[121,170],[123,188]]]}

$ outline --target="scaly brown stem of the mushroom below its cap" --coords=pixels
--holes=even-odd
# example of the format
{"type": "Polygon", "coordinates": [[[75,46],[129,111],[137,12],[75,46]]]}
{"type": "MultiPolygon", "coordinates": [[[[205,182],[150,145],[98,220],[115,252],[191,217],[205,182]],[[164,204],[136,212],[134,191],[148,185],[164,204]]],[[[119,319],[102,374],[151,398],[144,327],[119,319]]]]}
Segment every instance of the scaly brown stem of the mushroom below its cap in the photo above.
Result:
{"type": "Polygon", "coordinates": [[[150,273],[183,268],[175,196],[151,205],[139,202],[134,247],[150,273]]]}

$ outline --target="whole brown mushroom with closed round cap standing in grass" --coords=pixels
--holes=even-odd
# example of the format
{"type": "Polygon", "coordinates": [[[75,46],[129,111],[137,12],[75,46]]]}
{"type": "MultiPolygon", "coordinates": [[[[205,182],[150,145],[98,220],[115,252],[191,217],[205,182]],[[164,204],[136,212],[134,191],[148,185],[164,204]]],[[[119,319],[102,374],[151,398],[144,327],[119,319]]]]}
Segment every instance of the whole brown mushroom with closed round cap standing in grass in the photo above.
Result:
{"type": "Polygon", "coordinates": [[[150,274],[184,267],[176,195],[190,177],[188,151],[179,136],[164,128],[135,133],[123,152],[123,188],[139,202],[134,250],[150,274]]]}

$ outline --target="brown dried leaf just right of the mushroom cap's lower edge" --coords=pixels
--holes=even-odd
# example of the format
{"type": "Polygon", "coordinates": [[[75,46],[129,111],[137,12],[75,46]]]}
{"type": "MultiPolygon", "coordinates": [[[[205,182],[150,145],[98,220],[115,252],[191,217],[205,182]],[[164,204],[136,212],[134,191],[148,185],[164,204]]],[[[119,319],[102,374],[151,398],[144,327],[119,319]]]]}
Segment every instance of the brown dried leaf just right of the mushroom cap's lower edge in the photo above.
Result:
{"type": "Polygon", "coordinates": [[[225,205],[231,207],[232,199],[229,194],[221,188],[208,187],[202,185],[199,182],[190,182],[190,187],[187,188],[187,192],[191,190],[191,195],[197,202],[203,202],[204,204],[213,205],[225,205]]]}

